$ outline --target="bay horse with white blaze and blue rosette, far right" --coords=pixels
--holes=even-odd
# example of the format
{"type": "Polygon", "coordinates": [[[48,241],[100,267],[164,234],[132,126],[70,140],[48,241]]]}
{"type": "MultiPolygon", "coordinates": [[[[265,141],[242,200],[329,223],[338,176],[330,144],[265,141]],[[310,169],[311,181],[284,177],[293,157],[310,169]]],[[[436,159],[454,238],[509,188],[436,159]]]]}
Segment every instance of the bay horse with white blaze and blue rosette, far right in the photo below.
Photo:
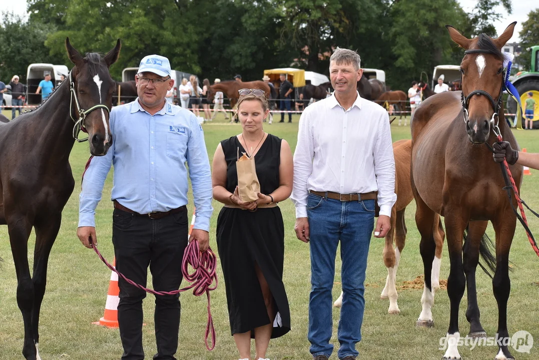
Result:
{"type": "MultiPolygon", "coordinates": [[[[419,326],[432,326],[431,266],[434,258],[433,219],[444,216],[451,270],[447,294],[451,312],[444,359],[460,359],[457,343],[459,305],[467,287],[470,336],[485,337],[479,319],[475,290],[475,269],[479,256],[494,267],[492,281],[498,305],[497,337],[502,339],[497,360],[514,359],[507,347],[507,300],[510,292],[509,249],[516,227],[516,215],[507,193],[500,165],[492,159],[488,146],[501,133],[514,149],[515,137],[503,117],[504,79],[501,48],[513,35],[510,24],[497,39],[485,34],[474,39],[462,36],[447,26],[451,39],[465,49],[461,62],[461,90],[427,98],[414,112],[412,131],[412,189],[416,199],[416,223],[421,234],[420,252],[425,269],[425,284],[419,326]],[[461,98],[462,96],[462,98],[461,98]],[[487,144],[487,145],[485,145],[487,144]],[[488,221],[496,240],[495,257],[483,241],[488,221]],[[466,242],[463,234],[468,228],[466,242]],[[463,259],[464,256],[464,259],[463,259]]],[[[517,187],[522,182],[522,166],[510,166],[517,187]]],[[[510,340],[510,338],[509,338],[510,340]]]]}

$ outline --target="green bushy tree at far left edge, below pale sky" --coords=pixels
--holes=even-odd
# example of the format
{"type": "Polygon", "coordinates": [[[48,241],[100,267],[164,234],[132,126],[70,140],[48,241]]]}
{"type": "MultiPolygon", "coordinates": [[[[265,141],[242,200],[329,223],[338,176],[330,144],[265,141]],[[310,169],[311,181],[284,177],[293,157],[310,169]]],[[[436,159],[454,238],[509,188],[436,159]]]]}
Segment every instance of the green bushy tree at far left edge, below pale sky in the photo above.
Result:
{"type": "Polygon", "coordinates": [[[26,82],[26,69],[31,63],[59,63],[58,57],[51,56],[43,47],[54,30],[51,25],[25,22],[13,13],[4,14],[0,24],[0,79],[7,82],[13,75],[19,75],[20,81],[26,82]]]}

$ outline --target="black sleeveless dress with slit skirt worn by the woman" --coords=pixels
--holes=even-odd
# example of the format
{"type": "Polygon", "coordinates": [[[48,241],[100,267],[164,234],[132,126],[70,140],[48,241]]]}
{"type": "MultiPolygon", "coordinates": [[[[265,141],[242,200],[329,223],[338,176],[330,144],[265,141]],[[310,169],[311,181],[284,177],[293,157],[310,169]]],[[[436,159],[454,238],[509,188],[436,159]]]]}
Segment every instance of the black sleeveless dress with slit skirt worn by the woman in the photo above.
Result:
{"type": "MultiPolygon", "coordinates": [[[[225,160],[226,189],[234,192],[238,185],[236,160],[245,152],[238,138],[221,142],[225,160]]],[[[281,139],[268,134],[254,156],[260,192],[271,194],[279,187],[281,139]]],[[[232,335],[269,324],[260,283],[255,272],[258,265],[271,290],[277,313],[272,338],[290,331],[290,309],[282,283],[285,256],[285,228],[279,207],[248,211],[223,207],[217,218],[217,249],[225,278],[232,335]]]]}

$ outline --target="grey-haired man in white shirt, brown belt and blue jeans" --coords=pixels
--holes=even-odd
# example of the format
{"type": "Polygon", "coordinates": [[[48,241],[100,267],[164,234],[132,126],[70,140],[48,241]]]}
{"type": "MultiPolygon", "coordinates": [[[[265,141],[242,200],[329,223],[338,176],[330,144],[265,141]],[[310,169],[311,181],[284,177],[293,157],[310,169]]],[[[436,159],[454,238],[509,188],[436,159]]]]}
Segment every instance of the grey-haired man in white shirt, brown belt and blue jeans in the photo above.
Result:
{"type": "Polygon", "coordinates": [[[309,105],[301,114],[294,153],[296,236],[310,244],[310,352],[327,360],[331,338],[331,288],[335,255],[341,241],[343,302],[338,326],[338,358],[358,355],[365,300],[364,280],[375,205],[379,217],[374,236],[390,229],[395,194],[395,161],[388,112],[357,93],[360,55],[337,48],[330,58],[333,95],[309,105]]]}

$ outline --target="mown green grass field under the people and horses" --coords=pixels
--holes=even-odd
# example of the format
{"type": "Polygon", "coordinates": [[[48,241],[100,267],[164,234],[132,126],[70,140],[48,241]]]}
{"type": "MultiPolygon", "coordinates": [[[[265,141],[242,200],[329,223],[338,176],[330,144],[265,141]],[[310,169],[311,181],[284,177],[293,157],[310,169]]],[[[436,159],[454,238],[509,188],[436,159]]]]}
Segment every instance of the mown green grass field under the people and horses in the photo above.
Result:
{"type": "MultiPolygon", "coordinates": [[[[4,111],[11,117],[11,112],[4,111]]],[[[299,116],[294,116],[294,123],[265,124],[265,130],[286,139],[292,150],[295,149],[299,116]]],[[[396,121],[397,122],[397,121],[396,121]]],[[[409,127],[391,126],[393,141],[410,138],[409,127]]],[[[217,121],[203,125],[210,161],[220,140],[240,132],[237,124],[225,123],[223,115],[217,121]]],[[[464,127],[462,129],[464,131],[464,127]]],[[[539,132],[516,131],[516,137],[522,147],[529,152],[539,152],[539,132]]],[[[75,191],[64,209],[63,223],[53,246],[49,262],[47,291],[43,301],[40,318],[39,350],[43,360],[51,359],[120,359],[122,348],[118,330],[107,329],[92,324],[103,316],[110,271],[101,263],[92,250],[84,248],[75,231],[78,222],[78,196],[81,173],[88,159],[88,145],[75,144],[71,153],[71,164],[75,177],[75,191]]],[[[110,189],[112,176],[109,176],[102,201],[97,210],[96,223],[99,248],[103,255],[112,260],[113,246],[110,189]]],[[[532,175],[524,178],[522,196],[531,208],[539,209],[539,171],[532,170],[532,175]]],[[[192,214],[192,203],[190,214],[192,214]]],[[[210,245],[217,249],[215,227],[220,204],[213,203],[214,216],[211,221],[210,245]]],[[[309,246],[296,239],[294,234],[295,213],[290,200],[280,204],[285,218],[285,271],[284,283],[292,314],[292,331],[284,337],[274,340],[269,345],[267,357],[280,359],[309,359],[307,341],[308,296],[310,290],[309,246]]],[[[423,263],[419,255],[419,234],[414,223],[415,204],[412,202],[406,211],[408,228],[407,246],[400,259],[397,273],[397,286],[403,281],[410,281],[423,274],[423,263]]],[[[539,235],[539,221],[528,214],[530,228],[539,235]]],[[[492,228],[488,230],[492,237],[492,228]]],[[[0,228],[0,256],[4,264],[0,270],[0,360],[22,359],[23,321],[17,307],[17,279],[11,257],[8,229],[0,228]]],[[[30,239],[29,248],[33,249],[34,239],[30,239]]],[[[362,359],[440,359],[444,351],[439,350],[440,337],[445,337],[449,321],[449,300],[447,292],[440,290],[436,294],[433,307],[434,328],[416,329],[415,323],[421,311],[422,290],[399,290],[399,315],[388,315],[388,300],[381,300],[379,295],[385,283],[386,269],[382,262],[383,239],[372,238],[371,253],[367,269],[365,290],[365,316],[362,328],[362,341],[358,344],[362,359]]],[[[29,251],[30,254],[33,251],[29,251]]],[[[441,279],[446,279],[449,272],[447,251],[444,249],[441,267],[441,279]]],[[[529,331],[536,340],[530,354],[520,354],[511,348],[517,359],[539,358],[539,259],[531,249],[523,229],[517,226],[510,260],[515,264],[510,274],[512,292],[508,303],[509,334],[519,330],[529,331]]],[[[30,258],[30,262],[32,259],[30,258]]],[[[340,260],[337,259],[335,274],[334,299],[341,291],[340,260]]],[[[219,266],[219,276],[221,276],[219,266]]],[[[151,284],[151,281],[148,281],[151,284]]],[[[185,284],[185,283],[184,283],[185,284]]],[[[481,320],[488,336],[494,336],[497,327],[497,306],[492,293],[492,282],[481,270],[477,276],[478,302],[481,320]]],[[[178,359],[238,359],[233,338],[230,336],[229,320],[226,308],[224,284],[221,283],[212,294],[212,314],[217,331],[217,345],[209,352],[204,347],[203,335],[206,324],[206,299],[195,298],[191,293],[184,293],[182,300],[182,322],[179,332],[178,359]]],[[[153,322],[153,295],[144,302],[144,349],[146,358],[155,354],[155,336],[153,322]]],[[[466,321],[466,294],[461,302],[460,333],[468,333],[466,321]]],[[[339,310],[333,312],[333,338],[336,358],[338,342],[336,338],[339,310]]],[[[495,347],[477,347],[473,351],[460,348],[465,359],[492,359],[497,353],[495,347]]],[[[253,347],[254,356],[254,347],[253,347]]]]}

